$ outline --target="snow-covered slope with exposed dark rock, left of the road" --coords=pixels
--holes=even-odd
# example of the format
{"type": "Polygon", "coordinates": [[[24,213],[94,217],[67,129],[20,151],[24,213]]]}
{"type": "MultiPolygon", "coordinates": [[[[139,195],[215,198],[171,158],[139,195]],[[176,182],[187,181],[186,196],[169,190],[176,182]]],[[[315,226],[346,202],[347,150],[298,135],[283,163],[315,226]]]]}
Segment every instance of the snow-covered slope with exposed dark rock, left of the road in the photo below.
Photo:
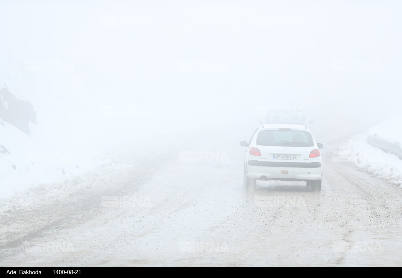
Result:
{"type": "Polygon", "coordinates": [[[95,160],[83,148],[54,140],[53,129],[36,125],[32,104],[0,82],[0,198],[35,185],[58,183],[109,161],[95,160]]]}

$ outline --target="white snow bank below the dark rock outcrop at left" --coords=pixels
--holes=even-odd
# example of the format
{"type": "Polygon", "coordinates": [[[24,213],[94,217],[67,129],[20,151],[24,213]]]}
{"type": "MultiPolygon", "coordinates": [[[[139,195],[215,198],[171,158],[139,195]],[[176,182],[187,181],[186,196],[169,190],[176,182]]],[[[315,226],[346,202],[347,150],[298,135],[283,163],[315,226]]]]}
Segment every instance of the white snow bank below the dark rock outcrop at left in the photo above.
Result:
{"type": "Polygon", "coordinates": [[[0,146],[0,198],[40,183],[63,181],[96,166],[74,151],[43,149],[35,139],[1,120],[0,146]]]}

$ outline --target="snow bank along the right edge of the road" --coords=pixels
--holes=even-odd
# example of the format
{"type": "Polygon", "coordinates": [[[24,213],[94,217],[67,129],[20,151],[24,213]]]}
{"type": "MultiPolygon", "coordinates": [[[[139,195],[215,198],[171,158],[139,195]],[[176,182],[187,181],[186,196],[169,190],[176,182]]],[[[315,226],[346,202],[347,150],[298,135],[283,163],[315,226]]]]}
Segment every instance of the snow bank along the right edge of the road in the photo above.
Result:
{"type": "Polygon", "coordinates": [[[381,141],[400,146],[402,115],[392,117],[383,123],[375,125],[364,135],[355,135],[340,149],[334,150],[334,162],[352,162],[357,168],[371,173],[374,177],[385,179],[388,183],[402,187],[402,160],[398,155],[386,152],[369,138],[375,136],[381,141]]]}

